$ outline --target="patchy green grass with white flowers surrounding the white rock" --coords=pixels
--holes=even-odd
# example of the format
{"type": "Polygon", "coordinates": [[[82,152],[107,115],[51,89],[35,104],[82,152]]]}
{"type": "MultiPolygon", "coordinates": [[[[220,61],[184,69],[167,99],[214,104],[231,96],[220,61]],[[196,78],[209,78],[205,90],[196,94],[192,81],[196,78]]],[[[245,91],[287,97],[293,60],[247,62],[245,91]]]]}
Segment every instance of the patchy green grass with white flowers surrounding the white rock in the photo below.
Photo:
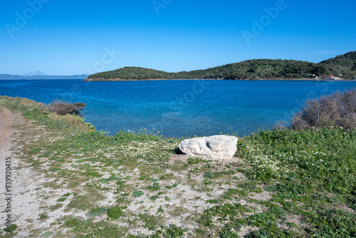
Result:
{"type": "Polygon", "coordinates": [[[41,140],[19,152],[48,178],[46,187],[61,191],[41,222],[58,209],[72,212],[56,219],[67,232],[58,237],[356,237],[356,130],[263,130],[239,138],[239,163],[172,163],[179,140],[109,136],[83,121],[63,127],[77,119],[43,113],[27,99],[0,102],[40,128],[33,131],[41,140]]]}

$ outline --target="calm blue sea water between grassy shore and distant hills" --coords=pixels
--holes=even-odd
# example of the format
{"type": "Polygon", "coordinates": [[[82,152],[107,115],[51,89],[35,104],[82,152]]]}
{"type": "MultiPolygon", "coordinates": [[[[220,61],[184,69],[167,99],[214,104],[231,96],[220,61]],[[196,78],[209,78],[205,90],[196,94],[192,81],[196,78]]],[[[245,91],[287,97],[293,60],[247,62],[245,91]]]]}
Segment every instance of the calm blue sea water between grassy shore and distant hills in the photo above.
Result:
{"type": "Polygon", "coordinates": [[[97,130],[146,129],[164,137],[245,135],[288,120],[306,99],[356,81],[0,81],[0,95],[83,102],[97,130]]]}

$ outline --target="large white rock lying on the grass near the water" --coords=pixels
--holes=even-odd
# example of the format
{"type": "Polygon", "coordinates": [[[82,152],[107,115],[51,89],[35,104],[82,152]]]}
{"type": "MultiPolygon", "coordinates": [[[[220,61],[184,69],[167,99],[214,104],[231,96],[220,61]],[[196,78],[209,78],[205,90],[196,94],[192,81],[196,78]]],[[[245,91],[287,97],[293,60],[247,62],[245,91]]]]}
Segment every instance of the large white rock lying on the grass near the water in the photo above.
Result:
{"type": "Polygon", "coordinates": [[[204,138],[182,140],[179,149],[193,157],[209,159],[231,159],[236,152],[238,138],[231,135],[213,135],[204,138]]]}

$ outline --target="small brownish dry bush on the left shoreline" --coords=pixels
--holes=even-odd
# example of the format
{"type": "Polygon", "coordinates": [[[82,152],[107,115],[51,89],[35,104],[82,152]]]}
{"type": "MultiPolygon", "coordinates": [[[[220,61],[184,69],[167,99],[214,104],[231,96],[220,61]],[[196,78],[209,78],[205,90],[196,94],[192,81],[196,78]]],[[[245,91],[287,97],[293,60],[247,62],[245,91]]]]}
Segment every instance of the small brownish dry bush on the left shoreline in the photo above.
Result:
{"type": "Polygon", "coordinates": [[[63,102],[63,100],[53,100],[53,103],[50,105],[47,105],[48,111],[51,113],[56,113],[57,115],[79,115],[80,110],[85,108],[84,103],[68,103],[68,102],[63,102]]]}

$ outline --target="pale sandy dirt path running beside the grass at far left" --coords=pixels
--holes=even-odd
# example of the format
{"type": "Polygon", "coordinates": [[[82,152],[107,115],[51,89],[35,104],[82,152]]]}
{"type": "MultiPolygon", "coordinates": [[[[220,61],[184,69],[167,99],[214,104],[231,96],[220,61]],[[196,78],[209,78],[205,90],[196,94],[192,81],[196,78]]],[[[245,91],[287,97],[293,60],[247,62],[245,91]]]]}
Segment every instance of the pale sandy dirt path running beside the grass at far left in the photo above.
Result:
{"type": "MultiPolygon", "coordinates": [[[[21,146],[19,142],[36,140],[33,136],[26,135],[33,130],[33,125],[28,123],[20,113],[11,113],[7,108],[0,108],[0,228],[4,229],[6,217],[11,214],[11,224],[16,224],[16,237],[28,237],[30,231],[38,229],[43,231],[47,224],[41,224],[38,220],[43,200],[39,199],[48,193],[43,188],[46,179],[21,158],[21,146]],[[11,190],[5,189],[6,180],[6,157],[11,157],[11,190]],[[11,194],[11,202],[6,198],[11,194]],[[41,196],[42,195],[42,196],[41,196]],[[11,212],[6,212],[6,207],[11,205],[11,212]]],[[[33,135],[33,134],[32,134],[33,135]]]]}

